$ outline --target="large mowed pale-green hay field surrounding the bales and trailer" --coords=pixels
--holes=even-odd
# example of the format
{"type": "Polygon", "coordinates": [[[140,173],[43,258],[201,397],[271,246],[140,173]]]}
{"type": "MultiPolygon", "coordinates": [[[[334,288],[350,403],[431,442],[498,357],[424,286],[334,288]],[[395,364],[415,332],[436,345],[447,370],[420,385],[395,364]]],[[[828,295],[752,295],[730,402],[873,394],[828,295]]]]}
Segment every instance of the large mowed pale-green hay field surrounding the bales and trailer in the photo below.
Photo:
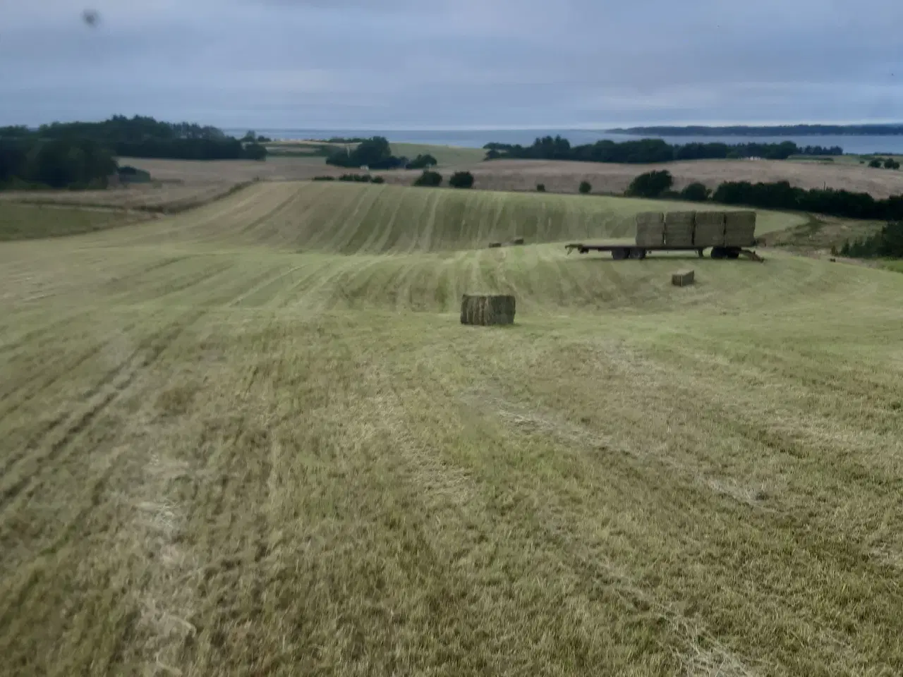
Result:
{"type": "Polygon", "coordinates": [[[564,254],[646,207],[258,183],[0,246],[0,672],[898,674],[903,276],[564,254]]]}

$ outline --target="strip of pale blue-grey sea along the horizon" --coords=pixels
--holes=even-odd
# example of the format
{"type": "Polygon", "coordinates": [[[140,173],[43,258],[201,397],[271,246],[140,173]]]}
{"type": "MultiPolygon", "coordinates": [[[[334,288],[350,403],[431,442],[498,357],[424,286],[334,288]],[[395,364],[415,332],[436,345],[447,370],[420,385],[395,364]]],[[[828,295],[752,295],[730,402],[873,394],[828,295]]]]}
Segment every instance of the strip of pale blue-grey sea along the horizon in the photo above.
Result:
{"type": "MultiPolygon", "coordinates": [[[[227,134],[242,136],[247,129],[226,129],[227,134]]],[[[648,136],[630,134],[610,134],[590,129],[468,129],[468,130],[424,130],[424,129],[256,129],[272,139],[328,139],[330,137],[356,138],[385,136],[389,143],[456,145],[465,148],[482,148],[490,142],[500,144],[533,144],[537,137],[561,135],[573,145],[594,144],[602,139],[611,141],[636,141],[648,136]]],[[[844,153],[852,154],[894,154],[903,155],[903,135],[837,135],[837,136],[654,136],[668,144],[692,144],[696,142],[724,144],[779,144],[792,141],[796,145],[840,146],[844,153]]]]}

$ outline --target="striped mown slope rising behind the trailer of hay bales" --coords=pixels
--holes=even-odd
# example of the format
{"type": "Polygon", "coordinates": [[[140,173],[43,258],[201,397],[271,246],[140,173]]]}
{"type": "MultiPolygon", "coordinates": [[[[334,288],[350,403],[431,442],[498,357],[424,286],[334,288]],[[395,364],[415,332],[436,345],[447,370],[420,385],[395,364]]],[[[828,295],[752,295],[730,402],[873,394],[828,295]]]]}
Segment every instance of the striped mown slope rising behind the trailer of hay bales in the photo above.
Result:
{"type": "MultiPolygon", "coordinates": [[[[647,209],[697,207],[661,200],[274,182],[257,184],[156,229],[126,229],[115,238],[338,254],[435,252],[482,248],[514,236],[530,243],[628,237],[634,233],[634,216],[647,209]]],[[[759,233],[805,222],[779,212],[759,215],[759,233]]]]}

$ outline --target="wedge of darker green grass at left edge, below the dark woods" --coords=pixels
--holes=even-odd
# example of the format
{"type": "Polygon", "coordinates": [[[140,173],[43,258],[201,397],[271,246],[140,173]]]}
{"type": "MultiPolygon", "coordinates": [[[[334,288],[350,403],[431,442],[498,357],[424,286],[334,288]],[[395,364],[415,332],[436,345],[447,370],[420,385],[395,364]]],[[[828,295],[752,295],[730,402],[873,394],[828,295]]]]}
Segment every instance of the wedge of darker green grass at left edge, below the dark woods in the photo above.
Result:
{"type": "Polygon", "coordinates": [[[0,241],[89,233],[124,226],[146,216],[119,209],[77,209],[50,205],[0,204],[0,241]]]}

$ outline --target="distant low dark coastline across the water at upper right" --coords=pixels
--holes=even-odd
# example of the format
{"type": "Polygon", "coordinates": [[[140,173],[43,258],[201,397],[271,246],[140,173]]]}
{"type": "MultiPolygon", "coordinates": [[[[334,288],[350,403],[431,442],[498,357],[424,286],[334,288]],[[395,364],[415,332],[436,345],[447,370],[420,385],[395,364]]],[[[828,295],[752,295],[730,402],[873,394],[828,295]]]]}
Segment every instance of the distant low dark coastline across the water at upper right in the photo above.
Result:
{"type": "Polygon", "coordinates": [[[631,136],[898,136],[903,123],[889,125],[729,125],[729,126],[651,126],[617,127],[609,134],[631,136]]]}

